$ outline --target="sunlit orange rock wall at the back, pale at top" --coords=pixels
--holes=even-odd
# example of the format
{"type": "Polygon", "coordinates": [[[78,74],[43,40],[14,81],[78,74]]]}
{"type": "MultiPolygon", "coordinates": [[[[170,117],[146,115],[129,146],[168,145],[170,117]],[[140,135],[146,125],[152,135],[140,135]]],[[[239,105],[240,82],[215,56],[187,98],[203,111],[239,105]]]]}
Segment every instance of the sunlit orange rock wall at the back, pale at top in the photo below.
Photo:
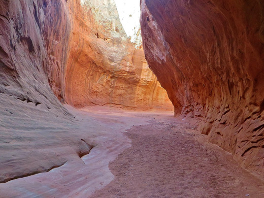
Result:
{"type": "Polygon", "coordinates": [[[120,23],[114,1],[68,2],[73,17],[65,100],[76,107],[172,109],[166,91],[120,23]]]}

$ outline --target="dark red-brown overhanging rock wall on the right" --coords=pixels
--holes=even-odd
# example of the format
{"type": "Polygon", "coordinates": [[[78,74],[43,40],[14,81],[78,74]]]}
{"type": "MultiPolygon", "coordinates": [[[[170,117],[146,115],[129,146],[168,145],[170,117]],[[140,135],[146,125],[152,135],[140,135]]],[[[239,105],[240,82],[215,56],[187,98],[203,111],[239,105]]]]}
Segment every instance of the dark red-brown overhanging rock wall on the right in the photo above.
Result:
{"type": "Polygon", "coordinates": [[[264,175],[264,3],[141,1],[146,59],[175,107],[264,175]]]}

